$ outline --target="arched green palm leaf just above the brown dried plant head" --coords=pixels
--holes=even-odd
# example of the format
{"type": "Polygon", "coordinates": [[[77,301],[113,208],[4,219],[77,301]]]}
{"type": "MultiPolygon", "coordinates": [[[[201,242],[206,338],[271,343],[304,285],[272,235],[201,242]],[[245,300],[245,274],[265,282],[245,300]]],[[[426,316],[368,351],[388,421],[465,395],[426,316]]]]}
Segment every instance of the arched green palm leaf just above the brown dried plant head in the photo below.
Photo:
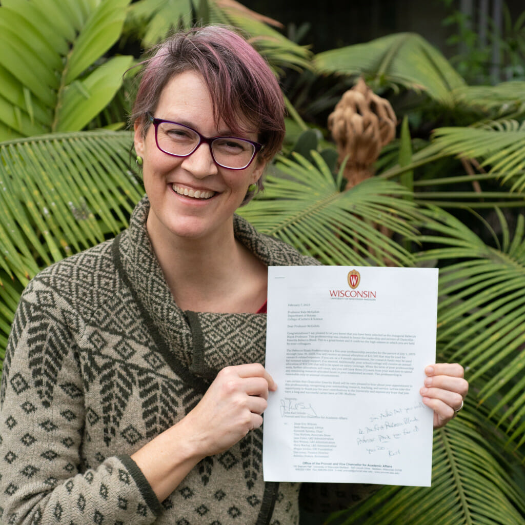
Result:
{"type": "Polygon", "coordinates": [[[324,73],[363,75],[376,85],[394,84],[423,91],[440,103],[451,105],[451,91],[465,85],[447,59],[423,37],[398,33],[324,51],[314,57],[324,73]]]}

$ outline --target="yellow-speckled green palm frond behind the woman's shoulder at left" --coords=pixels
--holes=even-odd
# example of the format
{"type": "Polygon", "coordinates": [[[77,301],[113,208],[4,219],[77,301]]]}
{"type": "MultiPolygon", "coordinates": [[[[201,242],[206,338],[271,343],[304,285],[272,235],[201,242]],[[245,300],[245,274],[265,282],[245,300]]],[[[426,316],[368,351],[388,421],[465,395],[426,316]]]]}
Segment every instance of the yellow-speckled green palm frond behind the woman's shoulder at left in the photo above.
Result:
{"type": "Polygon", "coordinates": [[[127,226],[143,194],[130,132],[54,133],[0,143],[0,352],[39,269],[127,226]]]}

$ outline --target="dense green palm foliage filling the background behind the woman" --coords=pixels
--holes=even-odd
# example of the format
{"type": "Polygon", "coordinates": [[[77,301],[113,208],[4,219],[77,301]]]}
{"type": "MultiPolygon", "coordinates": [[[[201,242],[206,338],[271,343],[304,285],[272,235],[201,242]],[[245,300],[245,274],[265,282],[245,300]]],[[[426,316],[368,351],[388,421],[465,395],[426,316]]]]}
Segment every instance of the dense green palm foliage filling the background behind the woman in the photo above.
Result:
{"type": "Polygon", "coordinates": [[[438,360],[471,383],[435,433],[432,488],[385,487],[334,522],[525,521],[522,82],[468,86],[415,34],[313,56],[235,2],[0,4],[0,362],[28,280],[124,228],[143,191],[131,134],[116,131],[140,58],[123,50],[195,19],[234,25],[295,86],[285,151],[240,213],[323,264],[439,267],[438,360]],[[322,119],[359,75],[406,124],[376,176],[344,191],[322,119]]]}

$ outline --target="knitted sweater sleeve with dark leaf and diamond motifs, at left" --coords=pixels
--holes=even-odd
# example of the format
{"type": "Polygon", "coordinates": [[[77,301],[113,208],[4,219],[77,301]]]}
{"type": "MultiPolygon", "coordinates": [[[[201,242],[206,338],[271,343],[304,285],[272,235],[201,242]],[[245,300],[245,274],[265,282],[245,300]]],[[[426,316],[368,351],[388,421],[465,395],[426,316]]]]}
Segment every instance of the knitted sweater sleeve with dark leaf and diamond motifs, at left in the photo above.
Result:
{"type": "Polygon", "coordinates": [[[7,346],[0,388],[0,522],[153,523],[160,503],[129,456],[101,457],[97,468],[83,464],[89,413],[71,319],[49,294],[24,293],[7,346]]]}

